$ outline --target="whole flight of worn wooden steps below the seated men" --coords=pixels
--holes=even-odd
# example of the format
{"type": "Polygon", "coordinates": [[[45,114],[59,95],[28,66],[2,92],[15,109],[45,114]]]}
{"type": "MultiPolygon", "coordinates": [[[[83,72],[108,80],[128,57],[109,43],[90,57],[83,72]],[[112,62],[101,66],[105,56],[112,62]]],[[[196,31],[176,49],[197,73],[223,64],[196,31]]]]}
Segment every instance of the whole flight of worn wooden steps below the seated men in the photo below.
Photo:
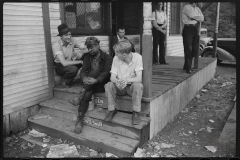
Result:
{"type": "MultiPolygon", "coordinates": [[[[132,100],[130,96],[117,97],[117,114],[111,122],[104,121],[107,110],[105,93],[96,93],[95,109],[87,111],[83,119],[83,132],[73,132],[78,107],[68,102],[78,95],[82,87],[74,82],[71,88],[54,88],[54,98],[41,102],[41,114],[51,118],[29,118],[29,126],[53,137],[67,139],[99,152],[110,152],[119,157],[132,155],[149,139],[149,102],[142,100],[140,123],[132,125],[132,100]]],[[[40,114],[40,113],[39,113],[40,114]]]]}

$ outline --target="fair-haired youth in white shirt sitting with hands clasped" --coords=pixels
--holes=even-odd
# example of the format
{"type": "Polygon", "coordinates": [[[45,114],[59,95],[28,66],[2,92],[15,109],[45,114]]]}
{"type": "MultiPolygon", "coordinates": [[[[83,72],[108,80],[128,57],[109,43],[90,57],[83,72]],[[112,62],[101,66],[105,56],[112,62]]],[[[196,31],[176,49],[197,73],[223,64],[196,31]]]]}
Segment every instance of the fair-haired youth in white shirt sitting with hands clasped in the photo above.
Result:
{"type": "Polygon", "coordinates": [[[139,115],[141,111],[141,99],[143,95],[142,56],[139,53],[133,53],[132,45],[128,40],[117,42],[113,47],[116,56],[113,59],[111,69],[111,82],[105,85],[105,93],[108,99],[109,113],[105,121],[111,121],[117,113],[116,95],[132,96],[132,124],[139,124],[139,115]]]}

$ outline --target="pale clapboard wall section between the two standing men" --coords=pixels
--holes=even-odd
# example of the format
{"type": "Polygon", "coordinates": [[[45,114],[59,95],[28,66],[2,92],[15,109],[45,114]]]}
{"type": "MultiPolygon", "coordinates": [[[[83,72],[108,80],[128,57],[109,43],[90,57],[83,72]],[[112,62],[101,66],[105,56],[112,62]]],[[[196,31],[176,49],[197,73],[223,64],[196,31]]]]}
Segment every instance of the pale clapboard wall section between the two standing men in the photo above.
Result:
{"type": "Polygon", "coordinates": [[[168,29],[167,29],[167,52],[166,56],[183,56],[184,50],[183,50],[183,41],[182,41],[182,35],[171,35],[170,34],[170,23],[171,23],[171,7],[170,3],[168,3],[168,29]]]}

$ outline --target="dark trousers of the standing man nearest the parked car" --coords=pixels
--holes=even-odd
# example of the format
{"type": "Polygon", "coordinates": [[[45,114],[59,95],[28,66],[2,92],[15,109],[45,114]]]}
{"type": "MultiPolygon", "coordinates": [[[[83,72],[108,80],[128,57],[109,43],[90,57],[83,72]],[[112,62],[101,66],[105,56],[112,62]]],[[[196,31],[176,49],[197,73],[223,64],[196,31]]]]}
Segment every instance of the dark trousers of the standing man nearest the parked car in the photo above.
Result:
{"type": "Polygon", "coordinates": [[[192,59],[197,54],[197,36],[198,31],[196,26],[184,26],[183,28],[183,47],[184,47],[184,66],[183,69],[190,70],[192,59]]]}

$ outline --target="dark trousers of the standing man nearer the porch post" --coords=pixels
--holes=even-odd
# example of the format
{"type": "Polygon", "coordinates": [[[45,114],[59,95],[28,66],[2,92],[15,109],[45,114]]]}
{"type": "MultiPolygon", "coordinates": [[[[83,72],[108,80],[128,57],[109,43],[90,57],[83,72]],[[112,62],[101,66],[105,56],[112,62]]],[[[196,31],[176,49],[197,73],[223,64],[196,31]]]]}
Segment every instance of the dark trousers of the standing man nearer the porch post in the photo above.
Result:
{"type": "MultiPolygon", "coordinates": [[[[162,24],[158,26],[162,26],[162,24]]],[[[166,63],[164,45],[165,34],[153,27],[152,35],[153,35],[153,63],[158,63],[159,61],[160,64],[164,64],[166,63]],[[158,58],[158,46],[159,46],[159,58],[158,58]]]]}

